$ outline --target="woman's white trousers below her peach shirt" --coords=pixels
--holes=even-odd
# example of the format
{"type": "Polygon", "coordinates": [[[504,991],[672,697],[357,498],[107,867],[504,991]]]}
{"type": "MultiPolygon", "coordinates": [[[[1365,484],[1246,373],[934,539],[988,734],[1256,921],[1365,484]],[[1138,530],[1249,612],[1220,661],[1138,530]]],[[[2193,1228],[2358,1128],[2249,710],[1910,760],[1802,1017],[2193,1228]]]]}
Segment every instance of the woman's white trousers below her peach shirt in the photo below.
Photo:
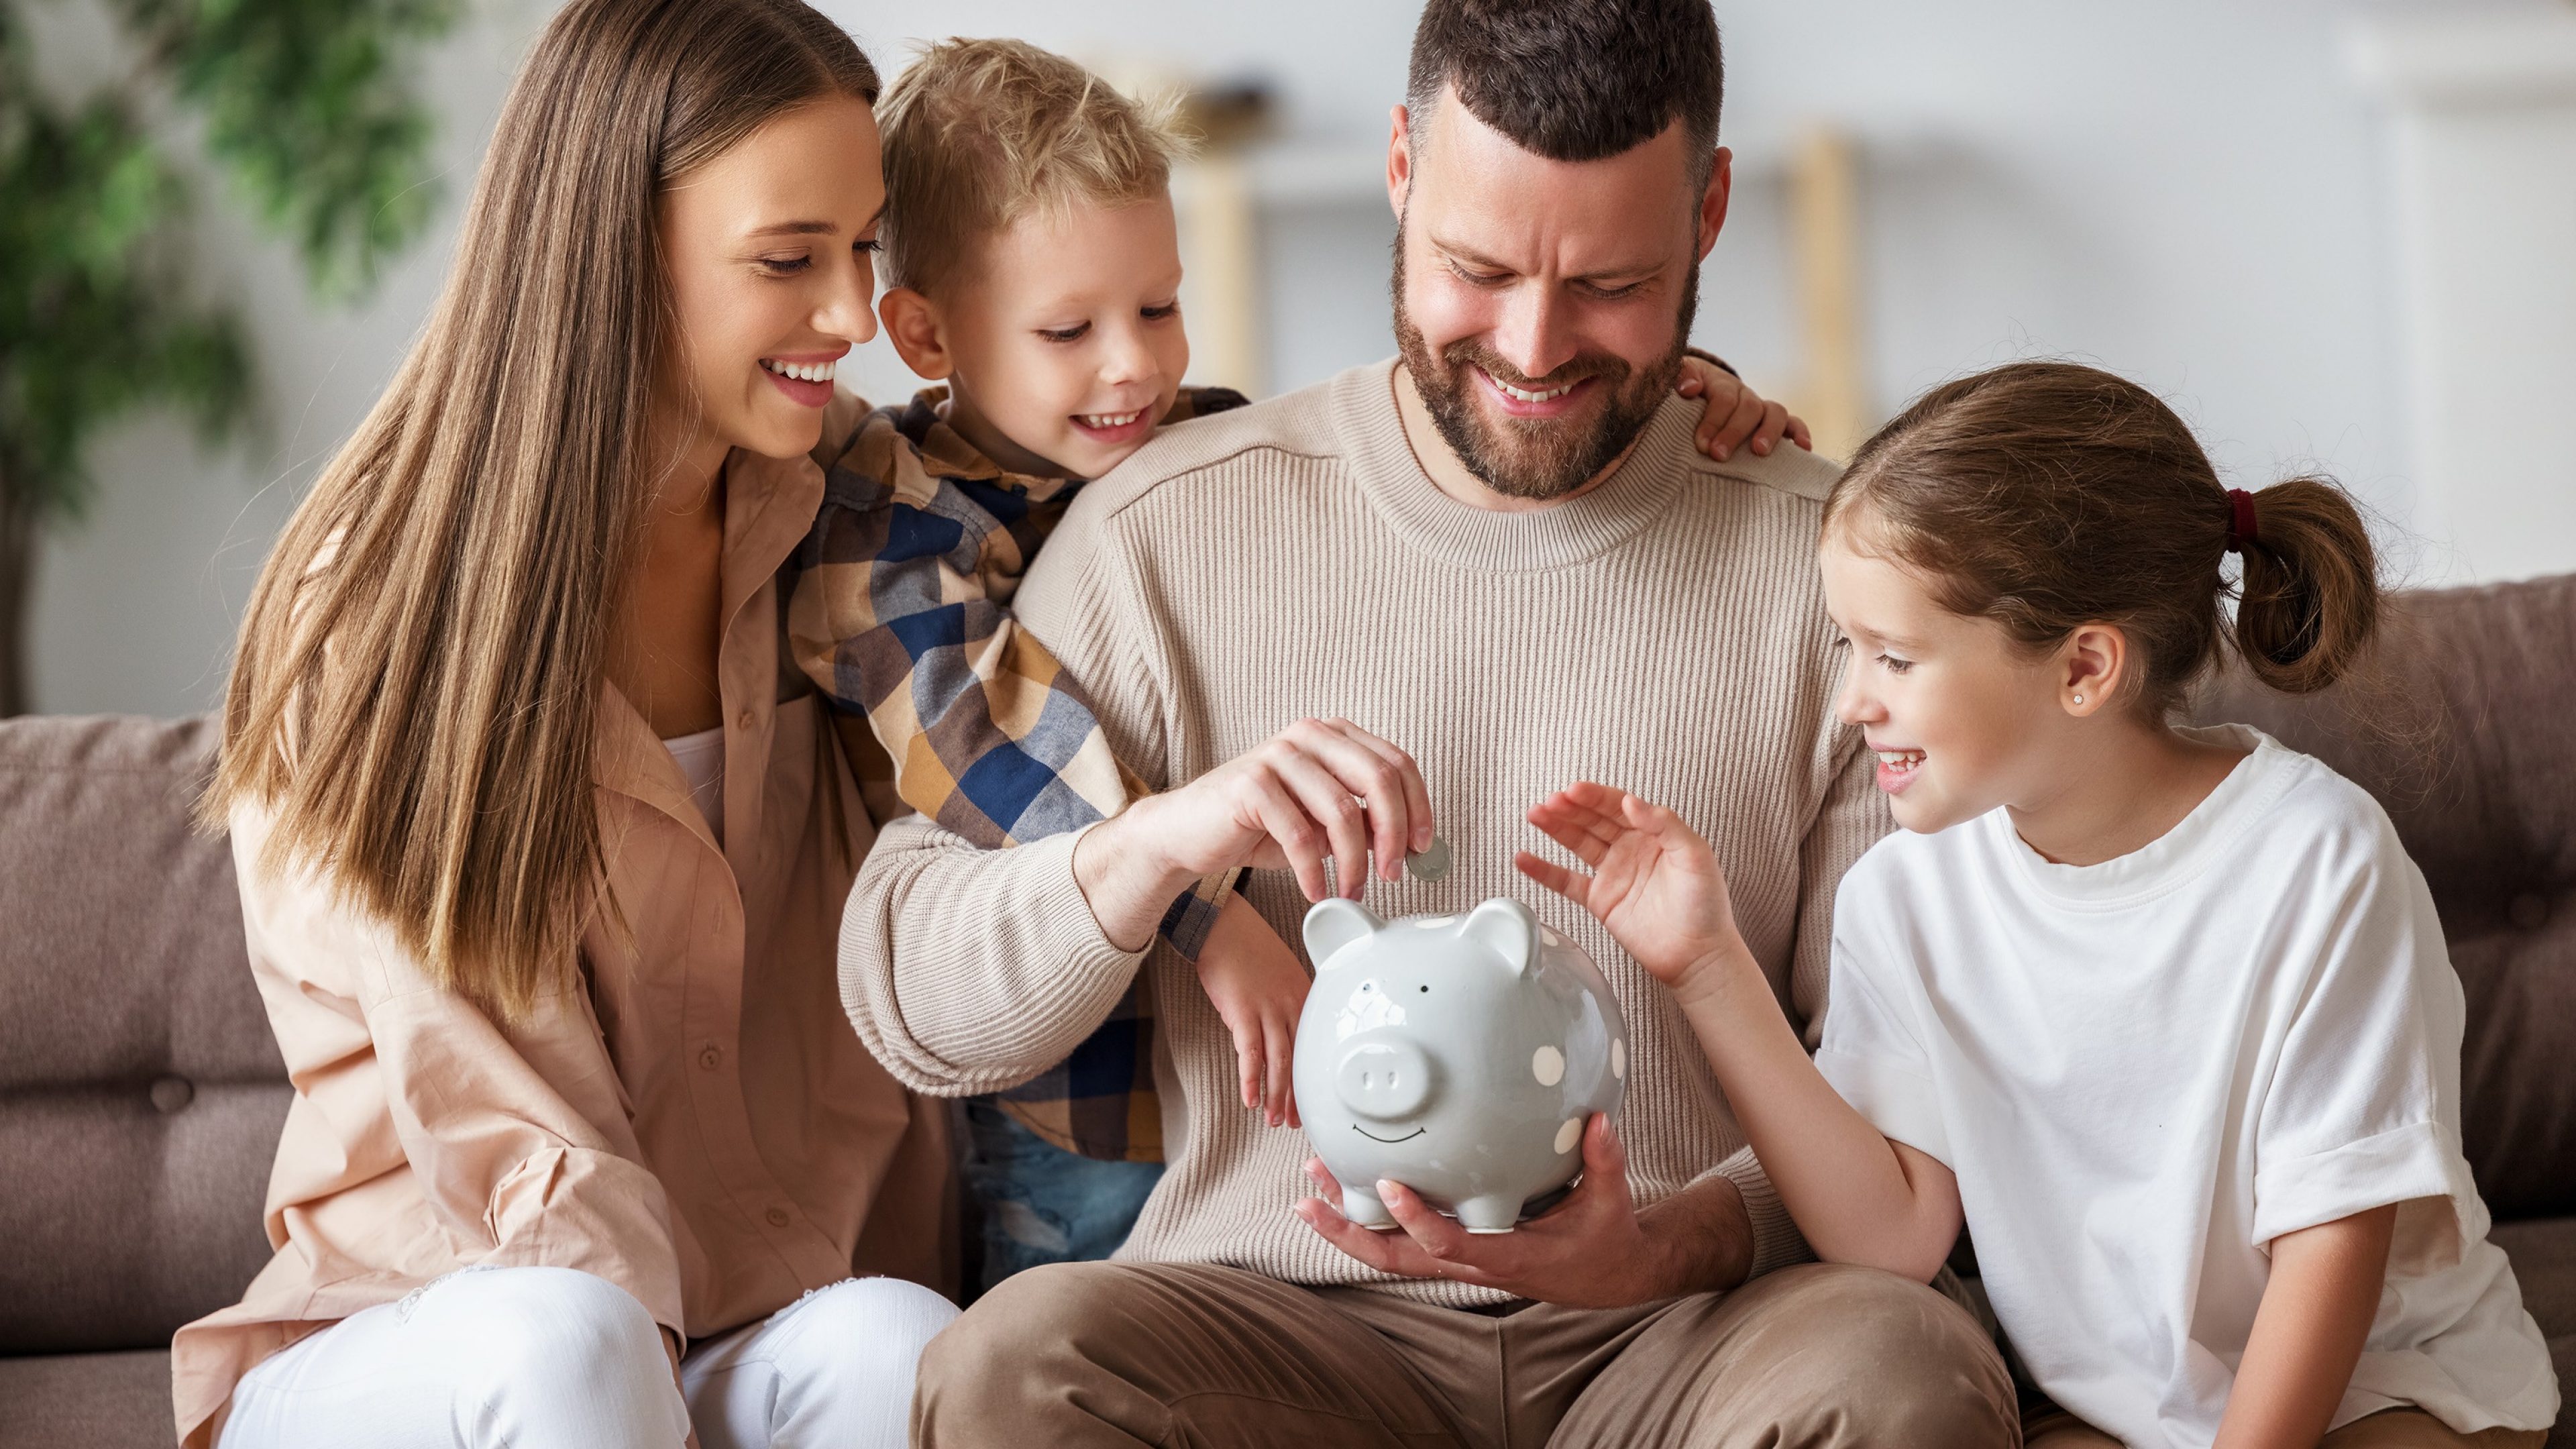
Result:
{"type": "Polygon", "coordinates": [[[662,1330],[608,1279],[466,1269],[255,1366],[219,1444],[672,1449],[696,1426],[701,1449],[899,1449],[912,1366],[956,1312],[850,1279],[701,1343],[675,1387],[662,1330]]]}

